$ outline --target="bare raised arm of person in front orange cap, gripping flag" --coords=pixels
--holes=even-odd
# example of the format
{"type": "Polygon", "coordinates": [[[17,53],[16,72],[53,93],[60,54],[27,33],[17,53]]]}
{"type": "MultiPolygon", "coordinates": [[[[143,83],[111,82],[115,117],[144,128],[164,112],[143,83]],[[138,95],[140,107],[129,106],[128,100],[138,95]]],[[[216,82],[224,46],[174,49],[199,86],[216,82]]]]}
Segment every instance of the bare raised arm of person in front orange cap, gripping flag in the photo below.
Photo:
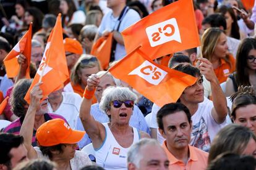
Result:
{"type": "Polygon", "coordinates": [[[33,148],[31,141],[33,137],[33,127],[35,123],[35,113],[36,110],[40,108],[40,100],[43,97],[43,92],[39,87],[40,84],[36,84],[33,87],[32,91],[30,91],[30,105],[20,128],[20,135],[24,138],[24,145],[27,148],[29,159],[37,158],[37,153],[33,148]]]}

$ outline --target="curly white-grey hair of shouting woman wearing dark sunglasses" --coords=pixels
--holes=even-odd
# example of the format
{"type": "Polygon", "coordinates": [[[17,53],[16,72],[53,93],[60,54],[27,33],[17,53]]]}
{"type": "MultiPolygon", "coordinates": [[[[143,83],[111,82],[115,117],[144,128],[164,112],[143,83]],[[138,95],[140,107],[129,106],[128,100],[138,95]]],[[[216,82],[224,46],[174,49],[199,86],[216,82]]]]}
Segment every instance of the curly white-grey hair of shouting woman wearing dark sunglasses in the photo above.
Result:
{"type": "Polygon", "coordinates": [[[132,100],[136,102],[137,95],[134,92],[130,91],[128,87],[108,87],[102,94],[102,98],[100,101],[101,110],[107,111],[110,110],[110,104],[114,100],[124,101],[124,100],[132,100]]]}

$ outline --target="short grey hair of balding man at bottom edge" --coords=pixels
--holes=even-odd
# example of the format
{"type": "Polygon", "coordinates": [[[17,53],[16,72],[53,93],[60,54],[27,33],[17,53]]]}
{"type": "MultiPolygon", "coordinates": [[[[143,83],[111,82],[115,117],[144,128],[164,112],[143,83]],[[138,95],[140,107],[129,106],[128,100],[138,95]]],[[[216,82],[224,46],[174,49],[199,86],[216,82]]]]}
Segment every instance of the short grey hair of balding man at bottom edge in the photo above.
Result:
{"type": "Polygon", "coordinates": [[[127,164],[133,163],[137,168],[140,167],[140,160],[143,158],[143,155],[140,153],[140,149],[145,145],[161,147],[156,139],[143,138],[130,147],[129,152],[127,153],[127,164]]]}

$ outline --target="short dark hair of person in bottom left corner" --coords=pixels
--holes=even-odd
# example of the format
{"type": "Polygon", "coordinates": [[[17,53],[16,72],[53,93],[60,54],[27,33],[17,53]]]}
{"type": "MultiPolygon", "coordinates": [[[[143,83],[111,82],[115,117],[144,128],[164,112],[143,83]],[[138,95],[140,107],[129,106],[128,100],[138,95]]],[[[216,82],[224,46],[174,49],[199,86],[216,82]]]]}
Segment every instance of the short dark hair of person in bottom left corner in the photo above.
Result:
{"type": "Polygon", "coordinates": [[[23,144],[24,139],[22,136],[1,133],[0,134],[0,164],[11,166],[12,155],[9,153],[12,148],[17,148],[23,144]]]}

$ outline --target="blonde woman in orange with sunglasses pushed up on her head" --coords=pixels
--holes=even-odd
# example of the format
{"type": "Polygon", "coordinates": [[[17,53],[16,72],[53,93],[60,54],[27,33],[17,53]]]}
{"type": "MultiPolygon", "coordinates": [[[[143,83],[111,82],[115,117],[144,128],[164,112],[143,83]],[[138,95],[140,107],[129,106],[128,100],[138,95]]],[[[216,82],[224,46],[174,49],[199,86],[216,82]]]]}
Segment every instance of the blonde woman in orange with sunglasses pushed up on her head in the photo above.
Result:
{"type": "MultiPolygon", "coordinates": [[[[70,79],[71,86],[75,93],[83,97],[83,91],[87,86],[88,76],[98,73],[100,71],[100,63],[96,57],[92,55],[82,55],[77,63],[75,63],[70,79]]],[[[93,103],[96,103],[96,98],[93,98],[93,103]]]]}

